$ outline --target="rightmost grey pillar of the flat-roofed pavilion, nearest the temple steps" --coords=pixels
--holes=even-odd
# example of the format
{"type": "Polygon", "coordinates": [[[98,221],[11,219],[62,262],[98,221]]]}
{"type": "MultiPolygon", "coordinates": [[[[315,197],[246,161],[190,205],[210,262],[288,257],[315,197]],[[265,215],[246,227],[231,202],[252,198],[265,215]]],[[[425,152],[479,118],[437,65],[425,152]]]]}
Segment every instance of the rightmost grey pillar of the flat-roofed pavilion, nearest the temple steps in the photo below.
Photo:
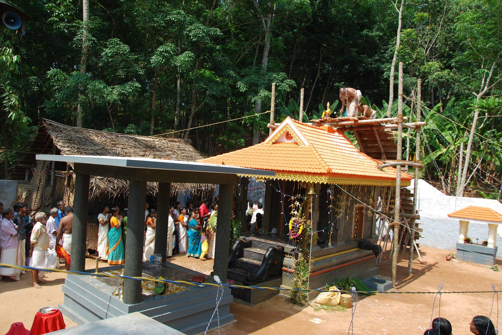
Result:
{"type": "Polygon", "coordinates": [[[228,252],[230,249],[230,231],[232,225],[233,184],[220,185],[218,200],[218,222],[216,246],[214,248],[214,274],[222,282],[226,281],[228,270],[228,252]]]}

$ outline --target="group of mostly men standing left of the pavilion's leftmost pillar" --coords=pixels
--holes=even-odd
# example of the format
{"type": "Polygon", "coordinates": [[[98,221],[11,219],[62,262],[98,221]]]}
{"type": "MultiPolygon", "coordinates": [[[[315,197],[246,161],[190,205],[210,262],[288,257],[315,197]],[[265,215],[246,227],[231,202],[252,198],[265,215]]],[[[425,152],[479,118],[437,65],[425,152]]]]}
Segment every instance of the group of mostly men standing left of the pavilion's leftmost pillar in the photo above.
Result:
{"type": "MultiPolygon", "coordinates": [[[[29,265],[33,267],[58,268],[61,254],[58,245],[71,249],[71,222],[73,209],[63,201],[49,211],[38,212],[32,217],[32,209],[23,202],[14,203],[13,208],[4,208],[0,203],[0,262],[10,265],[29,265]],[[65,218],[66,216],[66,218],[65,218]],[[67,222],[66,224],[64,222],[67,222]],[[63,234],[64,232],[64,234],[63,234]],[[63,237],[64,235],[64,237],[63,237]],[[67,237],[69,235],[69,237],[67,237]]],[[[67,269],[69,269],[69,258],[67,269]]],[[[44,271],[33,270],[33,287],[46,283],[44,271]]],[[[0,268],[2,280],[17,281],[26,274],[24,269],[14,267],[0,268]]]]}

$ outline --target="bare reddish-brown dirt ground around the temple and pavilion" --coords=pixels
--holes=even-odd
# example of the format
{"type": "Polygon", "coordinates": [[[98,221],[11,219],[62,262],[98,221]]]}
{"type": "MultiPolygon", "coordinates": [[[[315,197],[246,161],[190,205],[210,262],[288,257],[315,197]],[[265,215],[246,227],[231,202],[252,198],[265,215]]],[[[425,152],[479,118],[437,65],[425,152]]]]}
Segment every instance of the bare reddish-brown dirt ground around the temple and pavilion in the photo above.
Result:
{"type": "MultiPolygon", "coordinates": [[[[491,290],[491,284],[502,288],[502,272],[495,272],[487,266],[446,261],[450,252],[435,248],[420,247],[424,263],[418,259],[413,263],[413,275],[407,275],[408,256],[400,254],[398,263],[399,291],[436,291],[443,284],[443,291],[491,290]]],[[[390,276],[391,260],[388,252],[384,254],[380,273],[390,276]]],[[[212,261],[203,262],[176,255],[171,262],[206,274],[212,269],[212,261]]],[[[500,261],[499,261],[500,263],[500,261]]],[[[100,267],[107,266],[100,263],[100,267]]],[[[86,268],[94,268],[95,262],[88,259],[86,268]]],[[[500,266],[499,264],[499,267],[500,266]]],[[[62,265],[61,268],[64,268],[62,265]]],[[[3,313],[0,334],[9,330],[13,322],[22,321],[29,329],[36,311],[44,306],[57,306],[63,301],[61,285],[66,277],[63,273],[52,272],[46,275],[49,283],[42,289],[31,287],[31,274],[27,271],[18,282],[0,281],[0,301],[9,309],[3,313]]],[[[502,296],[500,297],[502,304],[502,296]]],[[[431,320],[434,294],[378,294],[359,299],[353,319],[355,334],[423,334],[431,320]]],[[[455,335],[467,335],[469,322],[474,315],[490,313],[492,294],[443,294],[441,296],[441,316],[450,320],[455,335]]],[[[502,307],[499,305],[499,307],[502,307]]],[[[496,323],[496,300],[493,304],[491,320],[496,323]]],[[[344,312],[314,311],[312,307],[297,306],[288,297],[275,296],[254,306],[233,302],[230,312],[236,321],[221,328],[223,334],[270,334],[326,333],[346,334],[351,311],[344,312]],[[294,329],[294,330],[293,330],[294,329]]],[[[439,297],[434,307],[434,317],[439,313],[439,297]]],[[[502,316],[502,315],[501,315],[502,316]]],[[[67,327],[74,324],[65,319],[67,327]]],[[[502,324],[502,319],[500,320],[502,324]]],[[[502,325],[500,326],[502,327],[502,325]]],[[[208,332],[217,334],[217,330],[208,332]]]]}

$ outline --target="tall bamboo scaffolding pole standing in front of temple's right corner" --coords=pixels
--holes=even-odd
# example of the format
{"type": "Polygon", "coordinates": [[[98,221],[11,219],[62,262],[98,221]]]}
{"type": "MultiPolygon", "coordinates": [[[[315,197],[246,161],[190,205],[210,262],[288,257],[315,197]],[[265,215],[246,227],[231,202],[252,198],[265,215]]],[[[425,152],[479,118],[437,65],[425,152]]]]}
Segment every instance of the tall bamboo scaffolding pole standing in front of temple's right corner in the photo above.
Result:
{"type": "MultiPolygon", "coordinates": [[[[396,160],[400,161],[403,150],[403,62],[399,62],[399,88],[398,88],[398,152],[396,160]]],[[[392,255],[392,282],[396,287],[398,252],[399,252],[399,220],[401,207],[401,165],[396,167],[396,193],[394,201],[394,254],[392,255]]]]}

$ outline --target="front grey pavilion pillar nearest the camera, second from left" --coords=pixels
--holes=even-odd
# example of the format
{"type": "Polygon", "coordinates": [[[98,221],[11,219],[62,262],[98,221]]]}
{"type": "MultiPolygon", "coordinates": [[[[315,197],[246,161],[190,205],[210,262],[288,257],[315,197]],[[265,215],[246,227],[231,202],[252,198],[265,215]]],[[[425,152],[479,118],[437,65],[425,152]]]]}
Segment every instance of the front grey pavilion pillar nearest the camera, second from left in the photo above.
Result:
{"type": "MultiPolygon", "coordinates": [[[[143,263],[143,234],[145,232],[146,181],[129,181],[129,203],[127,222],[127,243],[124,275],[141,277],[143,263]]],[[[125,279],[123,302],[127,304],[141,301],[141,281],[125,279]]]]}

